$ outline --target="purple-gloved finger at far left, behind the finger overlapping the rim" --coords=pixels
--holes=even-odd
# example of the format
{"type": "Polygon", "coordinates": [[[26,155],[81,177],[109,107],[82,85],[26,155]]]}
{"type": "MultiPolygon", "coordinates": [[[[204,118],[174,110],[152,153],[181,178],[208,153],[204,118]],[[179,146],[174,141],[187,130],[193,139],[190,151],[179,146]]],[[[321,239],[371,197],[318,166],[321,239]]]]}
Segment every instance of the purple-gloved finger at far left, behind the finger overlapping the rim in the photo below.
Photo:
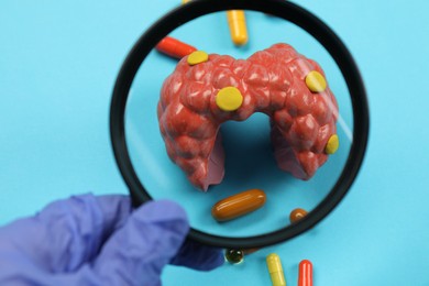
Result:
{"type": "Polygon", "coordinates": [[[0,275],[33,268],[21,265],[48,273],[73,272],[97,255],[130,211],[129,197],[84,195],[53,202],[35,217],[1,228],[0,275]]]}

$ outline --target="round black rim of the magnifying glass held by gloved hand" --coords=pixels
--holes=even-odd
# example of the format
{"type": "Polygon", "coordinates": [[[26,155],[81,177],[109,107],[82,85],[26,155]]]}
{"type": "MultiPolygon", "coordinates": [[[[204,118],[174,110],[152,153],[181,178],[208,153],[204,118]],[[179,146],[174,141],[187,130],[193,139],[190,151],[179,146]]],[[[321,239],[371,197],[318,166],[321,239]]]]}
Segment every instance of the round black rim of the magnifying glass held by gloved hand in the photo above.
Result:
{"type": "MultiPolygon", "coordinates": [[[[201,232],[194,228],[189,239],[207,245],[252,249],[292,239],[321,221],[344,197],[361,167],[369,138],[369,107],[365,88],[350,52],[321,20],[307,10],[284,0],[194,0],[170,11],[153,24],[135,43],[118,75],[110,107],[110,135],[114,157],[135,206],[151,200],[132,166],[125,143],[125,107],[139,67],[155,45],[173,30],[198,16],[224,10],[253,10],[295,23],[317,38],[339,66],[348,85],[353,107],[353,141],[346,164],[328,196],[304,219],[280,230],[248,238],[228,238],[201,232]]],[[[144,124],[144,122],[142,122],[144,124]]]]}

